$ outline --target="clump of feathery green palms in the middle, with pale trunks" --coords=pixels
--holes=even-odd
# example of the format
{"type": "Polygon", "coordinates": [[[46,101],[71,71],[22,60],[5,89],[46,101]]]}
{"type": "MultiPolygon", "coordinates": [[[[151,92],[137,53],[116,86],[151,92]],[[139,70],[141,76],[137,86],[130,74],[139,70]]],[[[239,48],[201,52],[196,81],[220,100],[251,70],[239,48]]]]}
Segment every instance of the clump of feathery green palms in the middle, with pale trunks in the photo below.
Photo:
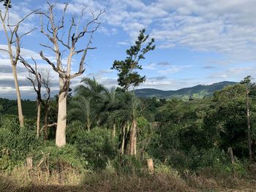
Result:
{"type": "Polygon", "coordinates": [[[121,154],[136,155],[137,118],[140,101],[134,93],[120,89],[108,91],[95,79],[84,78],[75,88],[69,118],[86,125],[112,128],[113,139],[116,127],[120,127],[119,150],[121,154]]]}

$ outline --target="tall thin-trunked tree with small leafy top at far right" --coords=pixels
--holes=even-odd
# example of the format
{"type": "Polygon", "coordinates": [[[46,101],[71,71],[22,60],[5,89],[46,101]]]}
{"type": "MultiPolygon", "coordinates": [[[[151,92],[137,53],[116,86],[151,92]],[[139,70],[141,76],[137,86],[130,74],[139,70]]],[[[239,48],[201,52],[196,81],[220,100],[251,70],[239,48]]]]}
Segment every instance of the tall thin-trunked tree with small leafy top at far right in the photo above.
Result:
{"type": "Polygon", "coordinates": [[[246,93],[246,118],[247,118],[247,137],[248,137],[248,152],[249,152],[249,162],[252,163],[252,138],[251,138],[251,119],[249,110],[249,92],[255,83],[252,82],[253,78],[251,75],[244,77],[240,83],[245,85],[246,93]]]}

